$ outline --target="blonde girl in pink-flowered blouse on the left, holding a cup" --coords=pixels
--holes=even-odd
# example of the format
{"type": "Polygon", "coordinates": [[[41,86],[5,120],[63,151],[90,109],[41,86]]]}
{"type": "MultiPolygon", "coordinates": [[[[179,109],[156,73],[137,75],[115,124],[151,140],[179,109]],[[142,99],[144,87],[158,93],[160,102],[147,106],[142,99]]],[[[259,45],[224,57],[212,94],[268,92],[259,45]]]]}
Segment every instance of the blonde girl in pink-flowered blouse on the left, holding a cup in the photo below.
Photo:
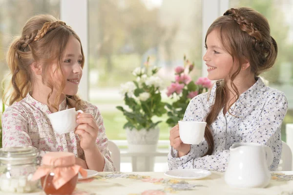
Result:
{"type": "Polygon", "coordinates": [[[33,146],[45,152],[73,152],[85,169],[115,171],[99,109],[76,95],[83,74],[84,52],[77,34],[50,15],[24,25],[10,45],[9,107],[2,117],[3,148],[33,146]],[[58,134],[47,114],[81,109],[74,132],[58,134]]]}

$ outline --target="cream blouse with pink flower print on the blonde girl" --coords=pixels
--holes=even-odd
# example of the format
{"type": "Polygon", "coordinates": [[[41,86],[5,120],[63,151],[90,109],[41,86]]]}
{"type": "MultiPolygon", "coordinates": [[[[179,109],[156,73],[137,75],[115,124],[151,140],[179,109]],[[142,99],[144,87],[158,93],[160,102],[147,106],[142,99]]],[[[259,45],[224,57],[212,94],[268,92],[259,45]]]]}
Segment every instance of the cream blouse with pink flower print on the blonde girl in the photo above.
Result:
{"type": "MultiPolygon", "coordinates": [[[[85,113],[90,113],[97,121],[99,132],[96,140],[97,146],[104,155],[104,171],[115,171],[114,164],[108,150],[108,139],[105,134],[103,118],[99,109],[85,102],[85,113]]],[[[67,108],[66,101],[60,104],[59,109],[67,108]]],[[[73,152],[76,157],[85,160],[84,151],[80,147],[80,139],[73,131],[58,134],[52,128],[47,114],[50,114],[47,105],[38,102],[29,94],[21,101],[8,107],[2,115],[2,145],[12,146],[33,146],[45,152],[73,152]]]]}

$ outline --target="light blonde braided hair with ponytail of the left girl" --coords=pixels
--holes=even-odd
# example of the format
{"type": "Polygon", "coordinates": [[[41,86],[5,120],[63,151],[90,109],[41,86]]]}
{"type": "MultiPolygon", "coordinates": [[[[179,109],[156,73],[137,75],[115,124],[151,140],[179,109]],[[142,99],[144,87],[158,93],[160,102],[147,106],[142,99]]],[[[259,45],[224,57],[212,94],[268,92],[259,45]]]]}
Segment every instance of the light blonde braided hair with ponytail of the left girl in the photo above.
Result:
{"type": "MultiPolygon", "coordinates": [[[[66,44],[74,36],[80,43],[77,34],[66,25],[51,15],[37,15],[30,18],[24,25],[21,36],[18,36],[10,44],[7,52],[7,64],[10,68],[11,83],[3,95],[3,102],[12,105],[14,102],[23,99],[32,90],[33,75],[31,72],[32,63],[42,65],[42,82],[50,87],[51,91],[47,97],[50,107],[54,111],[59,110],[65,78],[62,72],[62,62],[66,44]],[[57,61],[57,66],[53,64],[57,61]],[[54,81],[52,74],[57,74],[60,81],[54,81]],[[49,98],[57,90],[54,102],[49,98]]],[[[84,56],[83,47],[81,52],[84,56]]],[[[84,58],[84,57],[83,57],[84,58]]],[[[84,59],[82,63],[84,67],[84,59]]],[[[66,95],[69,108],[84,109],[84,102],[78,95],[66,95]]]]}

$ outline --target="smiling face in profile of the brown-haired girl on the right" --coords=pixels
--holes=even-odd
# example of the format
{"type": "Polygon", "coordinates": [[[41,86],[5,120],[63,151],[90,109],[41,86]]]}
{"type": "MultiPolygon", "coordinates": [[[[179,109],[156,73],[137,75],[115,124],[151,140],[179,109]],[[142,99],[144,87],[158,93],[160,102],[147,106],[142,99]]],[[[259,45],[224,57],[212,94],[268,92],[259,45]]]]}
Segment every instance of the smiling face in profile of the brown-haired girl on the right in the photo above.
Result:
{"type": "Polygon", "coordinates": [[[206,46],[207,52],[203,60],[208,66],[209,80],[228,79],[230,72],[235,72],[238,67],[233,63],[232,56],[224,49],[217,30],[209,33],[206,46]]]}

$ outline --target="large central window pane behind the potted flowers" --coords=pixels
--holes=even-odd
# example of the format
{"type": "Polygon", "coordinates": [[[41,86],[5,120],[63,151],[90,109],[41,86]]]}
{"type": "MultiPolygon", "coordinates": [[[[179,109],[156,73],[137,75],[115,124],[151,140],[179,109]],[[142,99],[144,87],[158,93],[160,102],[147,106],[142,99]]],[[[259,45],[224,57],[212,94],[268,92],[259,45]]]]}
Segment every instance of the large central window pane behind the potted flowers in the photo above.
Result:
{"type": "MultiPolygon", "coordinates": [[[[119,87],[150,56],[165,86],[183,55],[201,74],[201,0],[89,0],[90,101],[100,108],[109,139],[126,139],[119,87]]],[[[163,118],[160,139],[168,139],[163,118]]]]}

